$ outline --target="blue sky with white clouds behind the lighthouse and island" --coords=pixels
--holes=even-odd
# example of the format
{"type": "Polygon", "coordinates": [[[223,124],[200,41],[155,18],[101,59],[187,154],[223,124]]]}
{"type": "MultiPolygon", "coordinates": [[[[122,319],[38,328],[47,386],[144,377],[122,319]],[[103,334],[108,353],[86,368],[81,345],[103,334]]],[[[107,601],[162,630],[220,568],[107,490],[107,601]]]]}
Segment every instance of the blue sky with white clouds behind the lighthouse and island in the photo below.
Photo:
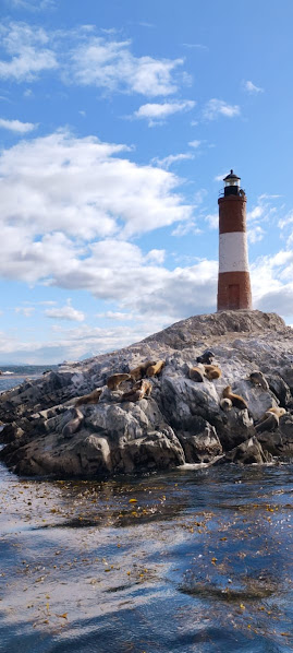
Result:
{"type": "Polygon", "coordinates": [[[0,365],[216,311],[218,197],[255,309],[293,323],[293,4],[2,0],[0,365]]]}

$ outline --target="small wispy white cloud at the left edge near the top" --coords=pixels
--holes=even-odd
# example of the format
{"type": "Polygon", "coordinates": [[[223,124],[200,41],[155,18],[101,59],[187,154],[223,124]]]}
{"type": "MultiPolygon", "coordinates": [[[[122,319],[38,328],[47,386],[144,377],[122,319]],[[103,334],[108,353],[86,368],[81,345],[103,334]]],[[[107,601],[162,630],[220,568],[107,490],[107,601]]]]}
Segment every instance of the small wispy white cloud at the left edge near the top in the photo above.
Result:
{"type": "Polygon", "coordinates": [[[34,81],[45,70],[58,67],[56,55],[48,46],[48,36],[41,27],[26,23],[0,25],[2,47],[10,56],[0,60],[0,79],[16,82],[34,81]]]}

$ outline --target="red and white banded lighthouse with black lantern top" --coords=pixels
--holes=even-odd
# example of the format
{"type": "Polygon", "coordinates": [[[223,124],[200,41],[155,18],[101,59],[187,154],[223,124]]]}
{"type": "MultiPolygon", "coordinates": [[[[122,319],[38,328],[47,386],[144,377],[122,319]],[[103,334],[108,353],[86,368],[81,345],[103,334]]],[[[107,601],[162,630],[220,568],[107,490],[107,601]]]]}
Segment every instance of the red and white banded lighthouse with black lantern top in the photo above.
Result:
{"type": "Polygon", "coordinates": [[[218,311],[252,309],[246,234],[246,195],[233,170],[219,198],[218,311]]]}

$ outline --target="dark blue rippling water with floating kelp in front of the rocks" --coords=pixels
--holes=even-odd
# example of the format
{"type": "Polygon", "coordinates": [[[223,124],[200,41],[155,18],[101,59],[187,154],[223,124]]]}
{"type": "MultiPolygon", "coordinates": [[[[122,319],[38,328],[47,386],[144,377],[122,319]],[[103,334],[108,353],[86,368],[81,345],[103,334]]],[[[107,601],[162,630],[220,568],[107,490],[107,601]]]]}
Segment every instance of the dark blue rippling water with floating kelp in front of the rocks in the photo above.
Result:
{"type": "Polygon", "coordinates": [[[0,489],[0,651],[292,651],[292,465],[0,489]]]}

